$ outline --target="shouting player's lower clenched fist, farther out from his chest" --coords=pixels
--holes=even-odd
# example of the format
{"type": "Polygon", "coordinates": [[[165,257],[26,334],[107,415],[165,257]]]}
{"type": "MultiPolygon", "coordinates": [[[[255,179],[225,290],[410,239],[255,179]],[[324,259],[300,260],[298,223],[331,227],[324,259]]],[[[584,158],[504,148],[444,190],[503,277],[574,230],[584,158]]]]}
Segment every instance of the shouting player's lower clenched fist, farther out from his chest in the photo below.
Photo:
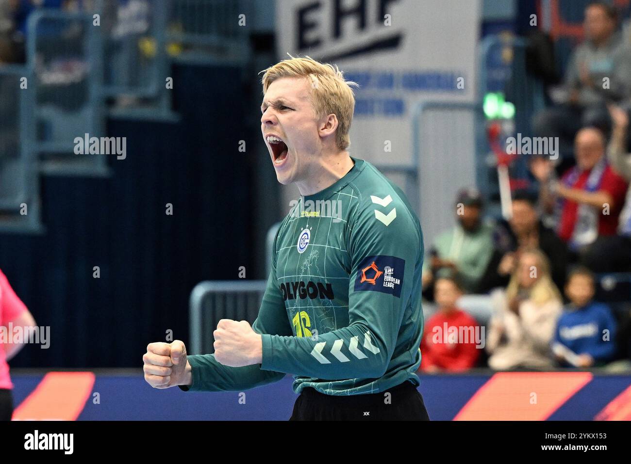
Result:
{"type": "Polygon", "coordinates": [[[148,344],[143,361],[144,380],[153,388],[170,388],[192,383],[186,347],[180,340],[148,344]]]}

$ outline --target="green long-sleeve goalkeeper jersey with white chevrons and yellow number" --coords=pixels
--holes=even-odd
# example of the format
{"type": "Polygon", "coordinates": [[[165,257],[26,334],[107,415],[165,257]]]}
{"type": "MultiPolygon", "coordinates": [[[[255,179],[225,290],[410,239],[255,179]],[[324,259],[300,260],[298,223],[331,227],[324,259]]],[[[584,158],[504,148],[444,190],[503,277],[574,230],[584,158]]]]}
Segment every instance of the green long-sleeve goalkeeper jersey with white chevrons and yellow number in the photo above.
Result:
{"type": "Polygon", "coordinates": [[[377,393],[411,381],[423,332],[423,236],[403,192],[374,166],[302,197],[274,240],[259,315],[262,363],[230,368],[189,356],[182,390],[245,390],[294,376],[327,395],[377,393]]]}

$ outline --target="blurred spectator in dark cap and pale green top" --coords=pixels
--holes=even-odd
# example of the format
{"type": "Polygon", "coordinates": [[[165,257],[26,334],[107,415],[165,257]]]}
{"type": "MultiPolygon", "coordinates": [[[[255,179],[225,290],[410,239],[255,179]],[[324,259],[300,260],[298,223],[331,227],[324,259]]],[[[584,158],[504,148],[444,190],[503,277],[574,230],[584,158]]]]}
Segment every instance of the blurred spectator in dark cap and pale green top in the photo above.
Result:
{"type": "Polygon", "coordinates": [[[461,190],[456,199],[454,228],[436,237],[423,264],[423,289],[432,286],[443,270],[461,278],[466,293],[477,293],[493,255],[493,228],[482,222],[482,195],[475,188],[461,190]]]}

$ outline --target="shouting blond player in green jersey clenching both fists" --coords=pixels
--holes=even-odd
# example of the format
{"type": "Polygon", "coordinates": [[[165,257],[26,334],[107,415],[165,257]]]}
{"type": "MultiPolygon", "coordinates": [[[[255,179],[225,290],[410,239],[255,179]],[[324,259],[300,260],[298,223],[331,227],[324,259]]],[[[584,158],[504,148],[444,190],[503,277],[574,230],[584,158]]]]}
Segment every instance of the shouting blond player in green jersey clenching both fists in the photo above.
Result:
{"type": "Polygon", "coordinates": [[[259,315],[252,327],[221,320],[214,354],[148,345],[144,377],[242,391],[291,373],[291,420],[428,420],[416,390],[423,236],[403,192],[348,152],[356,84],[309,57],[262,72],[262,137],[278,181],[302,198],[274,240],[259,315]]]}

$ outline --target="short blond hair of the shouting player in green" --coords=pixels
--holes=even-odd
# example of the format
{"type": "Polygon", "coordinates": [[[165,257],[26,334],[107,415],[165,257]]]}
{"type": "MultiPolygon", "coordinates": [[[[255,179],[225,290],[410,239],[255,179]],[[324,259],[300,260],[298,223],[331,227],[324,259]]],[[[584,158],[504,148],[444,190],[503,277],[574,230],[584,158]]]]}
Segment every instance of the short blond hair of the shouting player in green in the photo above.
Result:
{"type": "Polygon", "coordinates": [[[337,65],[317,62],[309,56],[289,56],[290,58],[261,71],[265,73],[261,79],[263,94],[276,79],[296,77],[309,79],[315,117],[320,119],[334,113],[338,118],[338,129],[335,134],[336,146],[340,150],[347,149],[351,144],[348,132],[355,110],[355,95],[351,86],[358,86],[358,84],[346,81],[344,73],[337,65]]]}

